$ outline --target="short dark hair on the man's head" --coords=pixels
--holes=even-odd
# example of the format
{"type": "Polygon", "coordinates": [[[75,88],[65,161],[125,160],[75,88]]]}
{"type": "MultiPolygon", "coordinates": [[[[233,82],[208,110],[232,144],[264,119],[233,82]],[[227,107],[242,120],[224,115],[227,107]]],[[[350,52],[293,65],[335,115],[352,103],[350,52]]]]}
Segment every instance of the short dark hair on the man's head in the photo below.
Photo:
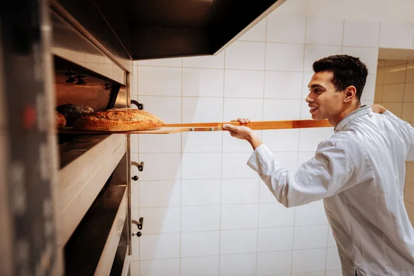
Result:
{"type": "Polygon", "coordinates": [[[355,86],[357,89],[356,97],[358,100],[361,99],[368,69],[359,58],[348,55],[333,55],[315,61],[312,67],[315,72],[333,72],[332,83],[337,91],[343,91],[348,86],[355,86]]]}

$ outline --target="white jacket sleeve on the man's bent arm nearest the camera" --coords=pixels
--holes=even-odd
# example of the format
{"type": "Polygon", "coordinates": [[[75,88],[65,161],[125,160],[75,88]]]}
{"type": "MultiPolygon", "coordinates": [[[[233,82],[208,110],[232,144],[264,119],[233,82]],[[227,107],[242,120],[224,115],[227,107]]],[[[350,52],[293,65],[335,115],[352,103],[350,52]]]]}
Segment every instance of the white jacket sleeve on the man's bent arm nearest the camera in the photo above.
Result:
{"type": "Polygon", "coordinates": [[[286,207],[331,197],[356,184],[351,156],[330,139],[319,144],[315,157],[302,164],[296,174],[279,164],[264,144],[256,148],[247,164],[286,207]]]}

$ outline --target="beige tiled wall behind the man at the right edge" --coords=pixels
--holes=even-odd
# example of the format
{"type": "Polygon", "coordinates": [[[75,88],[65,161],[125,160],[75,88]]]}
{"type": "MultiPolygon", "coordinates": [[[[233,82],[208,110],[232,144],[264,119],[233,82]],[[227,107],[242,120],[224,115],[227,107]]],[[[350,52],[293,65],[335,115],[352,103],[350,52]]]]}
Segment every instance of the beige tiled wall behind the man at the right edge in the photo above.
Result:
{"type": "MultiPolygon", "coordinates": [[[[414,125],[414,61],[380,59],[378,61],[375,103],[414,125]]],[[[414,224],[414,162],[406,162],[404,202],[414,224]]]]}

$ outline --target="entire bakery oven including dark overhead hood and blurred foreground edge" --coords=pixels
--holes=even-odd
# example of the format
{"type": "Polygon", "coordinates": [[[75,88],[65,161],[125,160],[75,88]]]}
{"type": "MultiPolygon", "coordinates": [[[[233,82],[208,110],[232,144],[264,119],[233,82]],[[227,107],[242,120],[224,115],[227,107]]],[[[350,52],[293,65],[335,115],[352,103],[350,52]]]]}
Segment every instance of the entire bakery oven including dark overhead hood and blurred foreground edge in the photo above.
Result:
{"type": "Polygon", "coordinates": [[[130,275],[143,164],[129,135],[59,133],[55,108],[143,109],[132,61],[215,54],[284,1],[1,1],[0,275],[130,275]]]}

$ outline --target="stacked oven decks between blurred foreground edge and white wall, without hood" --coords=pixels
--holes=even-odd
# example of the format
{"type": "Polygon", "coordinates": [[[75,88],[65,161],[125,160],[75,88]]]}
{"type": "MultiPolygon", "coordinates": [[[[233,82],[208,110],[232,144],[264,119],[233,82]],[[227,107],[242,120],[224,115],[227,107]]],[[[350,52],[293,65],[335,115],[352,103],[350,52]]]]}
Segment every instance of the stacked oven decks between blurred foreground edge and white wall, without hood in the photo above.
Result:
{"type": "MultiPolygon", "coordinates": [[[[56,106],[130,107],[130,69],[50,8],[56,106]],[[121,64],[121,66],[119,66],[121,64]]],[[[65,275],[128,275],[132,252],[129,135],[57,137],[57,245],[65,275]]]]}

